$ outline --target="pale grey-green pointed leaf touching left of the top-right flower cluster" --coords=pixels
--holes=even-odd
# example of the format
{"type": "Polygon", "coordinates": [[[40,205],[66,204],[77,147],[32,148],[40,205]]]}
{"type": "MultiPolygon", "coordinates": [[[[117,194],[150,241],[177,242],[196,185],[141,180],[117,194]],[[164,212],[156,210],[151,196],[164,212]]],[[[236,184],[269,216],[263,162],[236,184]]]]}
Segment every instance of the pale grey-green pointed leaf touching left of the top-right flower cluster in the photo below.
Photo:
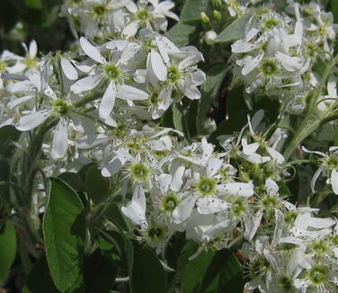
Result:
{"type": "Polygon", "coordinates": [[[227,42],[243,38],[245,36],[245,26],[251,17],[251,14],[244,14],[237,18],[236,21],[231,22],[226,29],[218,34],[215,42],[227,42]]]}

